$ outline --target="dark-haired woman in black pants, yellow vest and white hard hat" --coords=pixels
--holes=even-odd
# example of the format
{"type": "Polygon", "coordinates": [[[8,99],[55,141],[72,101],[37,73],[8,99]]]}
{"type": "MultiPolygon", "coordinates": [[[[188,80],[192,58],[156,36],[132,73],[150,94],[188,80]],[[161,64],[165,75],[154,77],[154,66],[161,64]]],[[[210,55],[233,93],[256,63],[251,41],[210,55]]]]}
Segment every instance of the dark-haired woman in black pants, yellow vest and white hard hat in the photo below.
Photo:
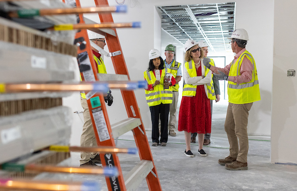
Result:
{"type": "Polygon", "coordinates": [[[146,99],[151,116],[151,138],[152,146],[166,146],[168,140],[168,115],[169,104],[172,103],[172,85],[175,78],[170,75],[170,69],[164,68],[164,61],[158,50],[149,51],[148,70],[144,72],[144,77],[148,82],[146,89],[146,99]],[[161,121],[161,138],[159,140],[159,117],[161,121]]]}

